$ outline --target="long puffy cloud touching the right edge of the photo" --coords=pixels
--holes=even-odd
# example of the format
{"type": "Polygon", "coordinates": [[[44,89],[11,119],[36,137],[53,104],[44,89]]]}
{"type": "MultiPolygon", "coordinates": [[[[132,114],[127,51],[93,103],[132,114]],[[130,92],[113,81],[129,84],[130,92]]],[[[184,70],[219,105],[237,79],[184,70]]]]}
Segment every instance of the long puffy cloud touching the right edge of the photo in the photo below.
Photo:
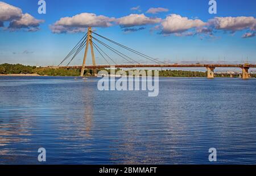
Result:
{"type": "Polygon", "coordinates": [[[239,31],[250,28],[255,30],[256,19],[252,16],[238,16],[238,17],[216,17],[209,20],[209,24],[213,25],[217,30],[239,31]]]}

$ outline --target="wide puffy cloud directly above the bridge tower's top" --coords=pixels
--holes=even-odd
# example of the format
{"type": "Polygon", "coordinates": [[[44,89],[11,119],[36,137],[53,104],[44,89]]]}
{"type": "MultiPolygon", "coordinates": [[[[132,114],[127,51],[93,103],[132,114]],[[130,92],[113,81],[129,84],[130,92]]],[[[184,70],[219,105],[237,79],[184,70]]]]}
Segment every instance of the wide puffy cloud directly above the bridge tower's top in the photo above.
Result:
{"type": "Polygon", "coordinates": [[[53,33],[84,32],[86,27],[110,27],[115,18],[92,13],[81,13],[72,17],[64,17],[50,26],[53,33]]]}

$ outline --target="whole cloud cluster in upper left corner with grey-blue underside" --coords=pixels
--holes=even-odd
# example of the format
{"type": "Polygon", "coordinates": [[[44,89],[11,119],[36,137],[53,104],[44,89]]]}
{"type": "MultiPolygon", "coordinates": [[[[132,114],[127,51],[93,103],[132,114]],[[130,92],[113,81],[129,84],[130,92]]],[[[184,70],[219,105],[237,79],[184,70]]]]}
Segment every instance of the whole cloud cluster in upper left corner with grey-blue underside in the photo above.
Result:
{"type": "Polygon", "coordinates": [[[4,27],[3,22],[10,22],[10,31],[26,28],[26,31],[38,31],[40,23],[44,20],[35,19],[30,14],[23,14],[22,10],[5,2],[0,2],[0,27],[4,27]]]}

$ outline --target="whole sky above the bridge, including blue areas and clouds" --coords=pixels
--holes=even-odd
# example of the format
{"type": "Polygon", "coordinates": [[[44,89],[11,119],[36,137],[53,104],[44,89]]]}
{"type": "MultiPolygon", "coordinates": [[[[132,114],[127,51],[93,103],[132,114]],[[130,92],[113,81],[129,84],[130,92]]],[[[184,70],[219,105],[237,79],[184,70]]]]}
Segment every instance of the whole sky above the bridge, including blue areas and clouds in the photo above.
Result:
{"type": "MultiPolygon", "coordinates": [[[[168,63],[256,64],[254,0],[216,0],[217,14],[209,14],[208,0],[45,2],[46,14],[39,14],[38,1],[0,0],[0,64],[57,65],[85,35],[88,26],[168,63]]],[[[101,48],[118,64],[127,64],[101,48]]],[[[83,52],[71,65],[81,65],[83,52]]],[[[96,63],[106,64],[94,52],[96,63]]],[[[140,63],[152,63],[129,56],[140,63]]],[[[86,64],[91,63],[89,55],[86,64]]]]}

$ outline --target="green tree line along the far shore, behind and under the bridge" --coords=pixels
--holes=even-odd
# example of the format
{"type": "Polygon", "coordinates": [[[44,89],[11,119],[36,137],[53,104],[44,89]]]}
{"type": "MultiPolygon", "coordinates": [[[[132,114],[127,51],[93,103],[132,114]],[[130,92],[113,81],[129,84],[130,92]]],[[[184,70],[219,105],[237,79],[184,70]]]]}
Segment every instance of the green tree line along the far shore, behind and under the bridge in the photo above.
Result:
{"type": "MultiPolygon", "coordinates": [[[[110,74],[110,69],[106,70],[110,74]]],[[[115,69],[115,72],[121,69],[115,69]]],[[[22,64],[0,64],[0,76],[80,76],[80,69],[53,69],[41,68],[22,64]]],[[[126,71],[127,72],[127,71],[126,71]]],[[[85,70],[85,77],[92,76],[92,70],[85,70]]],[[[256,77],[256,74],[250,74],[251,77],[256,77]]],[[[207,72],[193,72],[184,70],[159,70],[159,77],[207,77],[207,72]]],[[[230,74],[215,74],[215,77],[230,77],[230,74]]],[[[233,74],[233,78],[240,77],[239,74],[233,74]]]]}

